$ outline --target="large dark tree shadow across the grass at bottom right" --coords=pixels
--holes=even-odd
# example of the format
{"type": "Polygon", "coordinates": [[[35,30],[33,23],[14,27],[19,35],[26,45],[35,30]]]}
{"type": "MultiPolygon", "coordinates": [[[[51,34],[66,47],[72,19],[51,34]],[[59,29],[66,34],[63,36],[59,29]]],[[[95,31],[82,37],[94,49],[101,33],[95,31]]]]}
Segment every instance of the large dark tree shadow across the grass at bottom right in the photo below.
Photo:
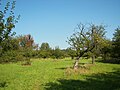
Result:
{"type": "Polygon", "coordinates": [[[59,79],[45,85],[46,90],[120,90],[120,71],[86,76],[86,80],[59,79]]]}

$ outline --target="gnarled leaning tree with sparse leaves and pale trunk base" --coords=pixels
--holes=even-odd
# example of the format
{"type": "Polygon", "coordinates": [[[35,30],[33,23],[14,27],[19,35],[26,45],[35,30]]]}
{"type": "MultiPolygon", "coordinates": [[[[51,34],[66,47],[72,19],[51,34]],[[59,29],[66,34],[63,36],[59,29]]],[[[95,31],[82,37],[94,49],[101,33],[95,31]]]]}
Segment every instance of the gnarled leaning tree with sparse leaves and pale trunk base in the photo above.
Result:
{"type": "Polygon", "coordinates": [[[77,31],[68,38],[68,44],[76,50],[76,61],[74,63],[74,69],[78,69],[79,59],[87,52],[92,52],[95,47],[101,43],[102,35],[104,35],[104,28],[102,25],[95,26],[90,25],[89,27],[84,24],[77,25],[77,31]]]}

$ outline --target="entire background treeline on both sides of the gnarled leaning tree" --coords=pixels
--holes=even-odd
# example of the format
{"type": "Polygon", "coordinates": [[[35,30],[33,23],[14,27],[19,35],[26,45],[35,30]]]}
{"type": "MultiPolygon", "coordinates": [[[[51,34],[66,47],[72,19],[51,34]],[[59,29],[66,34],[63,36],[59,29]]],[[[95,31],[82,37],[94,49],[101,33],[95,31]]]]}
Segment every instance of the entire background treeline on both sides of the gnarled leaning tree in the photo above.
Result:
{"type": "MultiPolygon", "coordinates": [[[[102,57],[105,61],[114,59],[120,59],[120,28],[117,28],[112,40],[106,39],[107,45],[102,45],[100,50],[97,50],[95,57],[102,57]]],[[[87,52],[83,57],[90,58],[91,52],[87,52]]],[[[71,57],[74,59],[77,57],[77,51],[74,48],[60,49],[50,47],[49,43],[42,43],[41,46],[35,44],[33,37],[28,35],[21,36],[9,36],[3,40],[0,45],[0,63],[3,62],[17,62],[17,61],[29,61],[30,58],[53,58],[63,59],[65,57],[71,57]]],[[[118,62],[119,63],[119,62],[118,62]]]]}

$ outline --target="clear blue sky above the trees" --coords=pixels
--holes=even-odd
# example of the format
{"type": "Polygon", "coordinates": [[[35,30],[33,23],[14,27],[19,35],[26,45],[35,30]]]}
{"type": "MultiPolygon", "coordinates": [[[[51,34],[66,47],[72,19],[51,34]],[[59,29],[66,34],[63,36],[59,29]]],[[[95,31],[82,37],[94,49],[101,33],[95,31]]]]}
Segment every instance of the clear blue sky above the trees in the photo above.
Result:
{"type": "MultiPolygon", "coordinates": [[[[9,0],[2,0],[3,3],[9,0]]],[[[11,1],[11,0],[10,0],[11,1]]],[[[48,42],[54,48],[69,47],[67,37],[79,23],[106,25],[112,39],[120,26],[120,0],[16,0],[15,15],[21,15],[14,31],[31,34],[35,43],[48,42]]]]}

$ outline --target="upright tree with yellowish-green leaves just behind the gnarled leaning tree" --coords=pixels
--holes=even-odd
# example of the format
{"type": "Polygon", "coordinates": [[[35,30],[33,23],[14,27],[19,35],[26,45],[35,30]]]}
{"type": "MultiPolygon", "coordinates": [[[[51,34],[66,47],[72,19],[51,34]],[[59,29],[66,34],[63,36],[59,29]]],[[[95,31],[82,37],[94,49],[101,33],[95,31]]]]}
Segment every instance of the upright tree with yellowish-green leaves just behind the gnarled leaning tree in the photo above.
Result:
{"type": "Polygon", "coordinates": [[[92,64],[95,62],[95,57],[100,54],[102,47],[107,46],[107,41],[105,39],[105,26],[103,25],[91,25],[91,39],[94,44],[94,49],[91,50],[92,55],[92,64]]]}

